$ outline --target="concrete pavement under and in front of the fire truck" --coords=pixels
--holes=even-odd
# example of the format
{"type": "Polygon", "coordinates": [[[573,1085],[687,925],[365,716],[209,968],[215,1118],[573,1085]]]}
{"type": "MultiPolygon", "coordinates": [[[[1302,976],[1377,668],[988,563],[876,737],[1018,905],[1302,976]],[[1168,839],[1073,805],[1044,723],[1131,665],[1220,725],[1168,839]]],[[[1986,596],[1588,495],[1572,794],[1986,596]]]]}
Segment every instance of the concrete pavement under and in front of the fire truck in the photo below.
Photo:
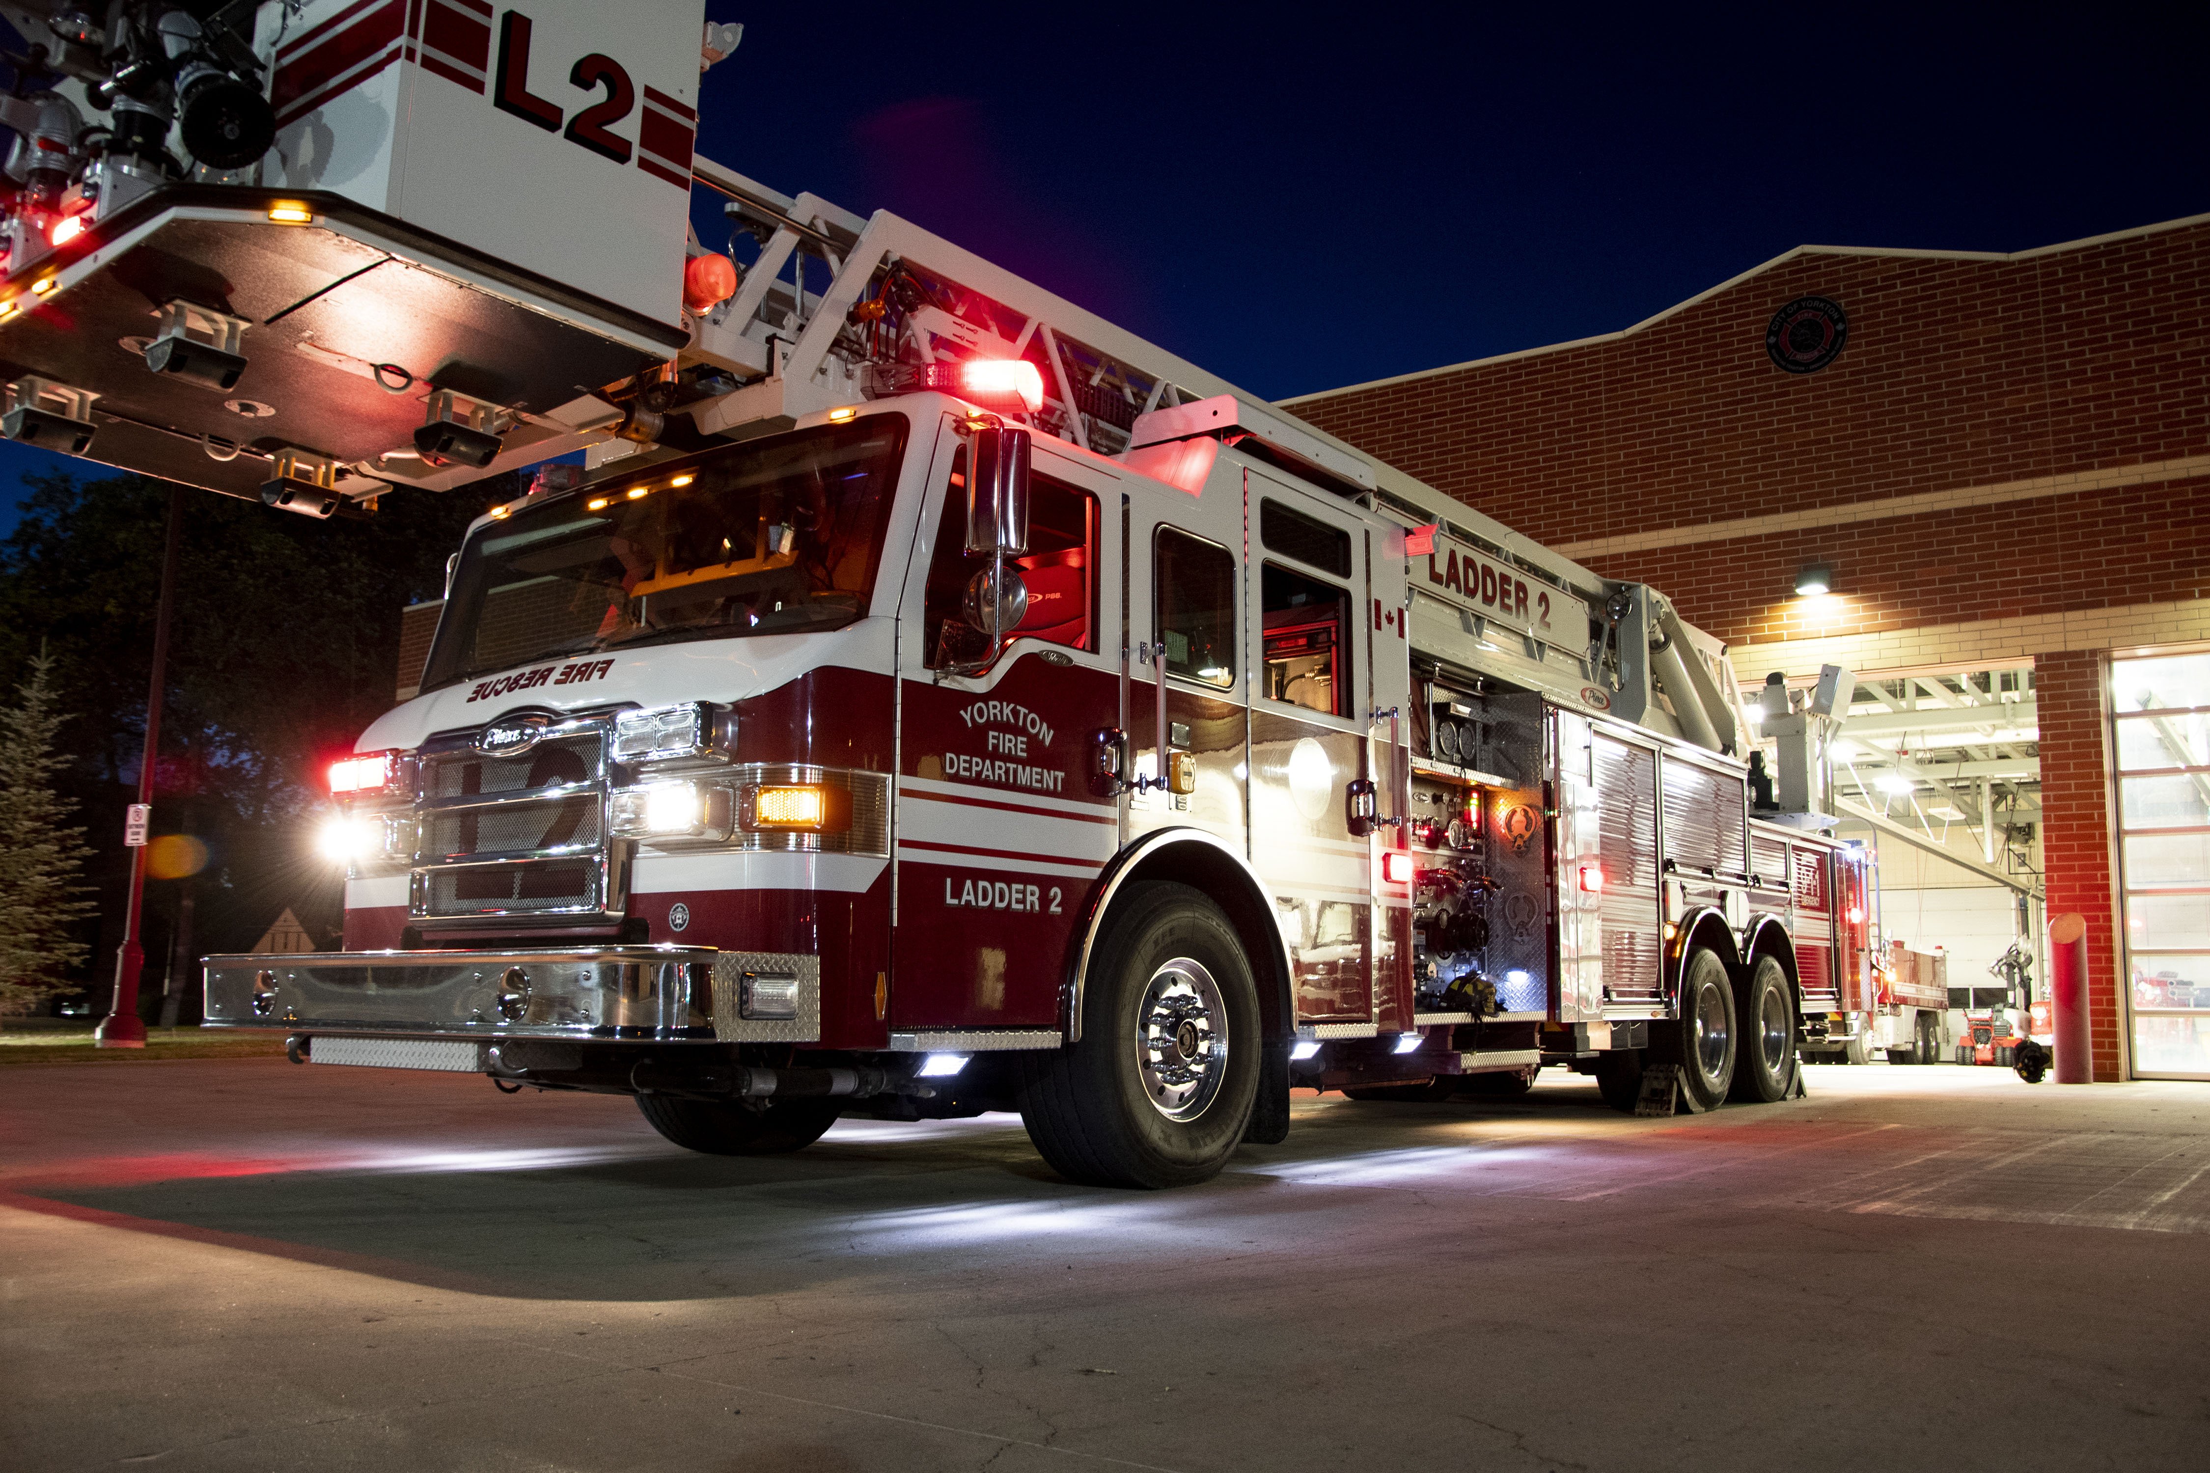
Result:
{"type": "Polygon", "coordinates": [[[1299,1095],[1218,1181],[1017,1117],[0,1071],[0,1466],[2201,1469],[2210,1084],[1812,1067],[1629,1120],[1299,1095]]]}

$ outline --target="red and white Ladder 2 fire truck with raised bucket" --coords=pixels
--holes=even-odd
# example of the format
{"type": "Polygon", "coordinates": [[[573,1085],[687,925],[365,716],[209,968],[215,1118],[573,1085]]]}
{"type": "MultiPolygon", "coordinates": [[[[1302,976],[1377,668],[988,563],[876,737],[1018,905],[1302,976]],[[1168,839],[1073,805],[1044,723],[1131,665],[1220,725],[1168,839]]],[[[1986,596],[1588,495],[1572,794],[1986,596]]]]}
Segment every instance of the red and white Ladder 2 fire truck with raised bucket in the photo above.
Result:
{"type": "Polygon", "coordinates": [[[1118,1186],[1299,1087],[1797,1087],[1865,877],[1753,817],[1664,594],[694,157],[696,4],[236,13],[20,18],[7,433],[314,517],[586,464],[329,764],[343,950],[206,958],[210,1027],[707,1153],[1019,1111],[1118,1186]]]}

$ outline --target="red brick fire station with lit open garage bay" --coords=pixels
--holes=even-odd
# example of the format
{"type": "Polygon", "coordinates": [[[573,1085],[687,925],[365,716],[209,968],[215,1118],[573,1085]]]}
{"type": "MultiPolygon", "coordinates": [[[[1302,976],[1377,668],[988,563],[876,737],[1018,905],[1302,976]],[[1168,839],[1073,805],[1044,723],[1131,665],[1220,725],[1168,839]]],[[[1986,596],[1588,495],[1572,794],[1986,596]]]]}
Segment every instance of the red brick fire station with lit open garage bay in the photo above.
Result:
{"type": "Polygon", "coordinates": [[[2044,888],[2088,919],[2095,1078],[2210,1073],[2210,216],[1799,247],[1618,333],[1286,406],[1653,583],[1746,680],[1854,669],[1856,797],[1956,859],[1920,890],[2044,888]]]}

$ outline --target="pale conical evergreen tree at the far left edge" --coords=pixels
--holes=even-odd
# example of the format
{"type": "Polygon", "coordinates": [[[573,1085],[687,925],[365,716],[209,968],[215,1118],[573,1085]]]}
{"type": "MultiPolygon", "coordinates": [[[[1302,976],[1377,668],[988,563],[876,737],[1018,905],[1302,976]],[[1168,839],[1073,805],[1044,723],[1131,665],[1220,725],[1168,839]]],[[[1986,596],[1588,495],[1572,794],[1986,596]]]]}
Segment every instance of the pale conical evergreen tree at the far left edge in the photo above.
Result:
{"type": "Polygon", "coordinates": [[[69,720],[55,704],[55,658],[40,649],[27,665],[20,700],[0,707],[0,1014],[71,987],[66,974],[86,952],[71,932],[93,908],[80,899],[93,857],[84,828],[62,826],[77,804],[53,786],[69,766],[55,751],[69,720]]]}

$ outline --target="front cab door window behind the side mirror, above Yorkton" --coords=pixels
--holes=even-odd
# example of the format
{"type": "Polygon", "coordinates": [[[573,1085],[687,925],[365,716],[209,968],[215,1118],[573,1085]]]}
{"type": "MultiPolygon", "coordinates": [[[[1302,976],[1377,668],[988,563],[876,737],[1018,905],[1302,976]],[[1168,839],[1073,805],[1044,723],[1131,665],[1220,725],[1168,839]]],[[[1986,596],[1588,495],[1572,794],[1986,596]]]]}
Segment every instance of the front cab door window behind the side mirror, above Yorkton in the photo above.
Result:
{"type": "MultiPolygon", "coordinates": [[[[1096,548],[1098,499],[1048,475],[1032,475],[1028,554],[1006,559],[1006,568],[1017,572],[1028,590],[1028,612],[1008,632],[1008,643],[1039,638],[1067,649],[1098,647],[1096,548]]],[[[975,627],[968,618],[968,590],[988,568],[988,554],[966,552],[966,448],[961,448],[944,492],[944,517],[937,521],[937,550],[922,603],[922,632],[933,669],[990,654],[988,610],[981,607],[981,598],[972,612],[983,627],[975,627]]]]}

